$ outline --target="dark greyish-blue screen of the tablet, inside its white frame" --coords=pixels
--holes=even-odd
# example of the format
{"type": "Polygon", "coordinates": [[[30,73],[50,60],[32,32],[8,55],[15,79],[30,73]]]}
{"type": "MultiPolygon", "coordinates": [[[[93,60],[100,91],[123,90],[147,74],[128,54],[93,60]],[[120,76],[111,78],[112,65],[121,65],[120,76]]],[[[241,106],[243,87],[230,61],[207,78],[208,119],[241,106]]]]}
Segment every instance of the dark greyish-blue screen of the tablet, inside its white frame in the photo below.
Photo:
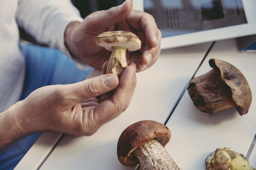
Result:
{"type": "Polygon", "coordinates": [[[242,0],[144,0],[144,11],[163,37],[247,23],[242,0]]]}

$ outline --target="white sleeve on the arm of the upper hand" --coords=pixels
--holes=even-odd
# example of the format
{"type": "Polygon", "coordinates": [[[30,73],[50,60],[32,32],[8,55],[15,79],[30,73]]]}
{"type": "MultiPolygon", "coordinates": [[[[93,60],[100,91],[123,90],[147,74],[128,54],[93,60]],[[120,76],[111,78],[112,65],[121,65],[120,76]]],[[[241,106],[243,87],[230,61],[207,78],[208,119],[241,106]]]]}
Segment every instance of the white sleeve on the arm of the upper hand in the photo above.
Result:
{"type": "MultiPolygon", "coordinates": [[[[79,11],[70,0],[19,0],[16,19],[39,43],[58,48],[69,55],[64,42],[64,32],[71,21],[82,22],[79,11]]],[[[82,60],[75,60],[78,67],[88,69],[82,60]]]]}

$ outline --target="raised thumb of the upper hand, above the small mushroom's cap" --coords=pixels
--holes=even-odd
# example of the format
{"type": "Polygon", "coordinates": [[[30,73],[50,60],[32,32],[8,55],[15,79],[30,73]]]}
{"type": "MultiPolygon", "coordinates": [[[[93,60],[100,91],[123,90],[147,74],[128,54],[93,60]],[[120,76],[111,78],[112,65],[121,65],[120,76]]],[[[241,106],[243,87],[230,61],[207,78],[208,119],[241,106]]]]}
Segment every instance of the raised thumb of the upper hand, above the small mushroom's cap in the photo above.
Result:
{"type": "Polygon", "coordinates": [[[131,0],[126,0],[123,4],[115,7],[111,7],[109,10],[100,11],[97,14],[97,17],[93,17],[93,20],[90,20],[91,28],[102,28],[104,25],[105,28],[102,30],[97,30],[99,33],[106,31],[107,28],[115,25],[117,22],[124,20],[127,16],[130,15],[132,11],[132,2],[131,0]]]}

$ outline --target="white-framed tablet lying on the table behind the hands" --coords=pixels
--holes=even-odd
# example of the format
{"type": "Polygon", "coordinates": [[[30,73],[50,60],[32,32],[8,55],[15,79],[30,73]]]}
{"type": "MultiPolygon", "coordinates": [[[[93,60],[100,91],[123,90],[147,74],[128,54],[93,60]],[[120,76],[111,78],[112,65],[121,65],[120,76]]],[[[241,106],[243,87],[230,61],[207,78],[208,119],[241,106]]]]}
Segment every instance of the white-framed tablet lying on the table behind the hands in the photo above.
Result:
{"type": "Polygon", "coordinates": [[[256,33],[255,0],[134,0],[133,8],[153,15],[162,49],[256,33]]]}

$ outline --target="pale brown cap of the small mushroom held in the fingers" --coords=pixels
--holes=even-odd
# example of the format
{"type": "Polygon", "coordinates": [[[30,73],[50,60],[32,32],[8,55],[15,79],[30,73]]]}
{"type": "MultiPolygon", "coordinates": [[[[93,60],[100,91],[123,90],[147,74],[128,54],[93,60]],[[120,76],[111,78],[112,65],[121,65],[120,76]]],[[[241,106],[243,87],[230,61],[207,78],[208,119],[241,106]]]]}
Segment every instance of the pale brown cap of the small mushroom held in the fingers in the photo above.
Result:
{"type": "Polygon", "coordinates": [[[112,52],[113,46],[125,47],[129,52],[141,48],[141,41],[137,35],[129,31],[106,31],[96,37],[98,46],[105,47],[112,52]]]}

